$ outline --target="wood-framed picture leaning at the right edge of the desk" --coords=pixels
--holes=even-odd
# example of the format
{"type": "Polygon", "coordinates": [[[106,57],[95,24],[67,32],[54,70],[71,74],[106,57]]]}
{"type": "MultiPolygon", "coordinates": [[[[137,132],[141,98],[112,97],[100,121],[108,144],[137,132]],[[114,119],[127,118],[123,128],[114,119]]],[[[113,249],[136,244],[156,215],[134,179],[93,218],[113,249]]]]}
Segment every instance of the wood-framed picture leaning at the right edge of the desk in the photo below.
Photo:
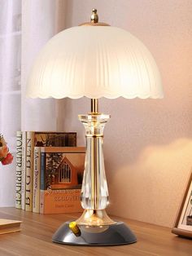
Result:
{"type": "Polygon", "coordinates": [[[192,174],[181,202],[172,233],[192,238],[192,174]]]}

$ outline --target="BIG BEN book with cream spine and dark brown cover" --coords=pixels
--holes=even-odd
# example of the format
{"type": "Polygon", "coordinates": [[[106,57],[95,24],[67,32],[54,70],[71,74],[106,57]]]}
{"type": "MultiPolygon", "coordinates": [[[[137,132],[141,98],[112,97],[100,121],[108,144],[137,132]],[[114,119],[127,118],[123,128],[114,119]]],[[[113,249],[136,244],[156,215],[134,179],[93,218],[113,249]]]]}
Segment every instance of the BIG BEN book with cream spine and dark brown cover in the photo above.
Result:
{"type": "Polygon", "coordinates": [[[76,132],[28,131],[26,138],[25,210],[33,210],[34,147],[74,147],[76,132]]]}

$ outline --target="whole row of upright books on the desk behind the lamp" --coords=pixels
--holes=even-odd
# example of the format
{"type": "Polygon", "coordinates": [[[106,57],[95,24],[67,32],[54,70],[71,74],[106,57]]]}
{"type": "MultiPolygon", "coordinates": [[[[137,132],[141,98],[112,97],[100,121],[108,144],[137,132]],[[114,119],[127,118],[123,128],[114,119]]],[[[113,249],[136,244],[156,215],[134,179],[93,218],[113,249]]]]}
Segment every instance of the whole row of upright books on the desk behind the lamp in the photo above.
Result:
{"type": "Polygon", "coordinates": [[[41,214],[82,211],[84,163],[76,132],[17,131],[15,207],[41,214]]]}

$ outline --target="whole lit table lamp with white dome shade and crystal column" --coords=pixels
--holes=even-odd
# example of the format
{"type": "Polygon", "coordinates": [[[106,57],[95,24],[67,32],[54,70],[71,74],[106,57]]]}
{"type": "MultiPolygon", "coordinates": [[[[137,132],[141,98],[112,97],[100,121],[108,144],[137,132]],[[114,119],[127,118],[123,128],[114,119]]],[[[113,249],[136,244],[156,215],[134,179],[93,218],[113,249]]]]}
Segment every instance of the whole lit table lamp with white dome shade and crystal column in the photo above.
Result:
{"type": "Polygon", "coordinates": [[[79,119],[85,126],[85,172],[80,218],[63,223],[53,241],[68,245],[125,245],[137,241],[125,223],[106,213],[107,179],[103,130],[110,118],[100,113],[98,99],[162,98],[159,70],[151,53],[131,33],[91,20],[63,30],[40,51],[28,77],[27,95],[91,99],[91,110],[79,119]]]}

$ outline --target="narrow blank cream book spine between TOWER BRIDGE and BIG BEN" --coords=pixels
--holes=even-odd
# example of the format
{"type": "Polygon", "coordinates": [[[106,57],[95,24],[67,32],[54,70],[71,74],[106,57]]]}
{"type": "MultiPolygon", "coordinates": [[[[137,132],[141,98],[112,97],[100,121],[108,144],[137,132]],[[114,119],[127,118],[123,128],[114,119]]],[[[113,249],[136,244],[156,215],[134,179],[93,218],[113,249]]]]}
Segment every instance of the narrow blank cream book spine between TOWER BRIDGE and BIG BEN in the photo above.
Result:
{"type": "Polygon", "coordinates": [[[22,131],[21,209],[25,210],[26,131],[22,131]]]}

